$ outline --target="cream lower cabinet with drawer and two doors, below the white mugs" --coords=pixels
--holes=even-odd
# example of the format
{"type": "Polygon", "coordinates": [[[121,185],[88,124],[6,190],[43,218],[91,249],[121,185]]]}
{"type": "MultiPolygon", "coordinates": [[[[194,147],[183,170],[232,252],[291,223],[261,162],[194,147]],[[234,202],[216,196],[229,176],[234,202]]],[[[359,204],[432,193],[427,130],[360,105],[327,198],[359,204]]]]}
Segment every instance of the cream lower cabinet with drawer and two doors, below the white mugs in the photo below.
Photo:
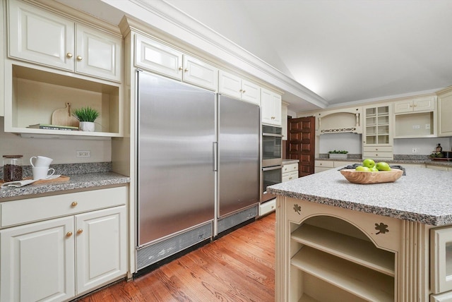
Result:
{"type": "Polygon", "coordinates": [[[57,202],[61,205],[49,208],[48,215],[64,208],[83,211],[0,230],[1,302],[69,301],[126,276],[126,205],[85,212],[87,207],[124,204],[126,188],[97,191],[1,204],[2,224],[8,223],[5,215],[20,208],[32,211],[25,219],[39,219],[57,202]],[[106,200],[98,202],[102,196],[106,200]],[[24,208],[30,203],[40,210],[24,208]]]}

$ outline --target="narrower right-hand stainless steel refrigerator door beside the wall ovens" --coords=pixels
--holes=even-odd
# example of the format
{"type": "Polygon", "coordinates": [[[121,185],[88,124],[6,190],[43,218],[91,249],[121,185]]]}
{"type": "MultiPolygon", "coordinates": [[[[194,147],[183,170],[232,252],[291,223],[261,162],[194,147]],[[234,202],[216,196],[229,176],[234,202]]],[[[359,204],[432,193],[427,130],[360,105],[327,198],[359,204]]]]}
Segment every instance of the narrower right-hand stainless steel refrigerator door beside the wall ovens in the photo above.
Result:
{"type": "Polygon", "coordinates": [[[259,202],[260,116],[256,104],[218,96],[219,218],[259,202]]]}

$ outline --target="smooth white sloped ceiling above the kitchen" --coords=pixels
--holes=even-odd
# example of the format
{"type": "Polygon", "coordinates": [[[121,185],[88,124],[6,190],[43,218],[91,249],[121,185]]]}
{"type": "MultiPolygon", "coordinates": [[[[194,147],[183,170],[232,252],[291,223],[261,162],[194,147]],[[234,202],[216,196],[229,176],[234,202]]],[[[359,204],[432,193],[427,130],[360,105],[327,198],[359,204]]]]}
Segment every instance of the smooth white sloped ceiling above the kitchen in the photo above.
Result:
{"type": "MultiPolygon", "coordinates": [[[[58,1],[78,8],[83,2],[58,1]]],[[[452,85],[452,0],[166,1],[315,92],[328,107],[452,85]]],[[[116,24],[121,18],[105,9],[97,16],[116,24]]],[[[302,99],[290,102],[293,111],[311,108],[302,99]]]]}

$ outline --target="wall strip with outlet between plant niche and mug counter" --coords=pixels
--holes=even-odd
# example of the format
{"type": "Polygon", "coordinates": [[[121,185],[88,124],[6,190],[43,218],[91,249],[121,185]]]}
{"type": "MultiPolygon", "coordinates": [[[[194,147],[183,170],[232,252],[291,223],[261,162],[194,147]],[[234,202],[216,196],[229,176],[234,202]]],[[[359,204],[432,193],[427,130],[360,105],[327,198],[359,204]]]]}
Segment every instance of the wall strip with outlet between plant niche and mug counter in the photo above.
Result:
{"type": "Polygon", "coordinates": [[[0,156],[23,155],[23,165],[29,165],[32,156],[44,155],[54,159],[52,164],[83,162],[111,162],[111,140],[69,138],[22,138],[4,132],[4,118],[0,116],[0,156]],[[77,150],[89,150],[90,157],[76,157],[77,150]]]}

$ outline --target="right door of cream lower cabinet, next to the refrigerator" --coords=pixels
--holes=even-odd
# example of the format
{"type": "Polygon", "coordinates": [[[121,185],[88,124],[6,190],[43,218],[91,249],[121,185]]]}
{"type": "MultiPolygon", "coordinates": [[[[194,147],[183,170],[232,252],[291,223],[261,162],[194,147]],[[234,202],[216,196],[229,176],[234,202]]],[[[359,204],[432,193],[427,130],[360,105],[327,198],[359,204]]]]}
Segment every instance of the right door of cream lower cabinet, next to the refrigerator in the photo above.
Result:
{"type": "Polygon", "coordinates": [[[126,274],[126,206],[76,215],[77,294],[126,274]]]}

